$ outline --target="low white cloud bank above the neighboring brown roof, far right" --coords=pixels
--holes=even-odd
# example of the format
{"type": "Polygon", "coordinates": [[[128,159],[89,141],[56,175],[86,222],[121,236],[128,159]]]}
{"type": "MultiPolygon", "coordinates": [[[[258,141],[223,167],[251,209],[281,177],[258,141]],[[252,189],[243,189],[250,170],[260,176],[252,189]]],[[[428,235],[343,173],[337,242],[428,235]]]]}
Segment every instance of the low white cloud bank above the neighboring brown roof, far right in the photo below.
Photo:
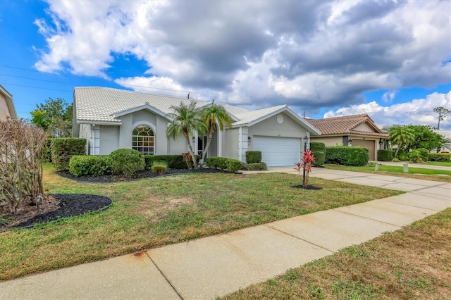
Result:
{"type": "MultiPolygon", "coordinates": [[[[328,111],[324,114],[324,118],[368,113],[374,122],[379,125],[421,124],[437,126],[438,115],[433,112],[433,108],[438,106],[451,110],[451,91],[446,94],[435,92],[424,99],[414,99],[392,106],[381,106],[376,101],[347,106],[337,111],[328,111]]],[[[440,129],[451,129],[451,120],[447,119],[440,123],[440,129]]]]}

